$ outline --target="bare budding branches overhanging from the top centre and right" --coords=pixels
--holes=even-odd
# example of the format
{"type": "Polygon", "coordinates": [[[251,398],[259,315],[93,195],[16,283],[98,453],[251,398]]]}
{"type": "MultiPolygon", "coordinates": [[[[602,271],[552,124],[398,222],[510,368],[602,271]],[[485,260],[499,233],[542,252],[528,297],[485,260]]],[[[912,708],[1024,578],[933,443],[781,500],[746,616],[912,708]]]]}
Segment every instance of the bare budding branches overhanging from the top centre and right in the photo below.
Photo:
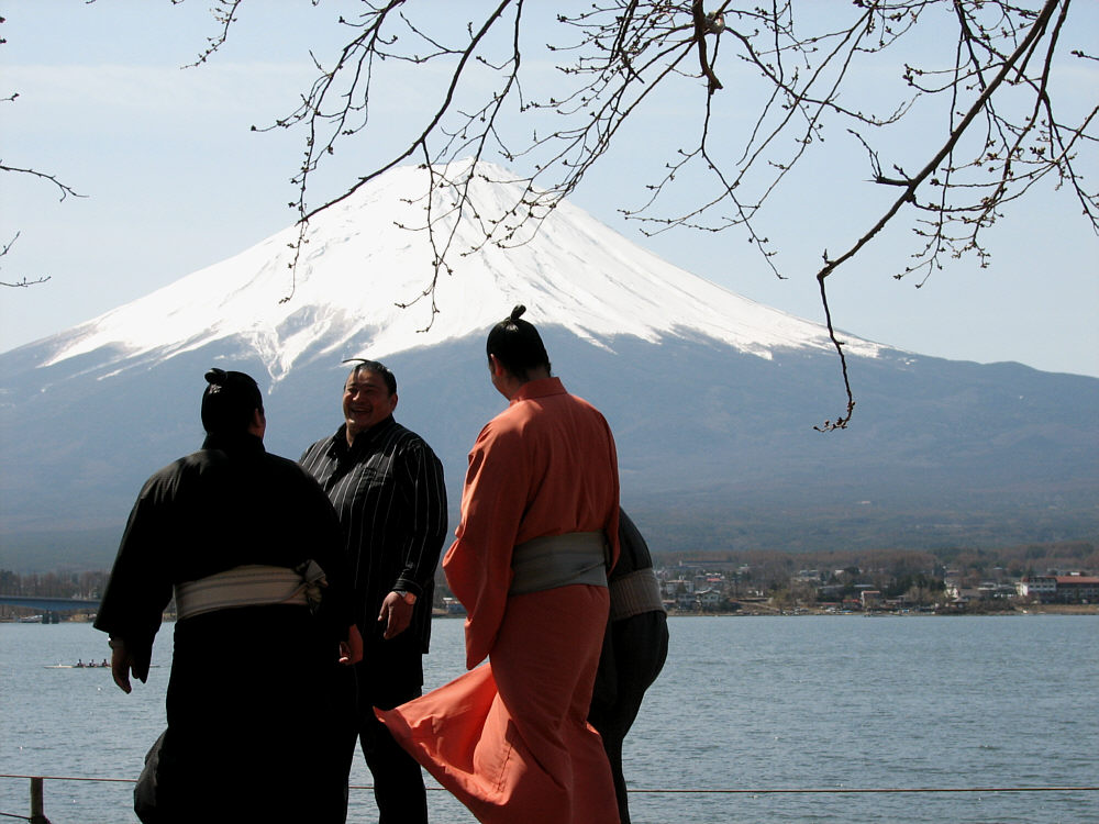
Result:
{"type": "MultiPolygon", "coordinates": [[[[200,63],[226,43],[243,1],[217,0],[218,32],[200,63]]],[[[776,192],[798,185],[795,170],[819,155],[839,123],[839,134],[866,153],[870,180],[881,191],[896,190],[856,241],[840,244],[842,254],[824,253],[815,276],[847,396],[846,412],[817,428],[844,428],[855,401],[825,281],[887,225],[901,215],[909,220],[915,250],[893,276],[919,271],[917,288],[951,259],[974,256],[987,266],[986,230],[1043,180],[1074,197],[1085,225],[1099,232],[1099,190],[1077,169],[1080,153],[1094,157],[1099,142],[1099,105],[1068,121],[1057,107],[1056,58],[1067,49],[1078,60],[1097,59],[1065,44],[1068,34],[1079,40],[1072,7],[1073,0],[854,0],[823,13],[795,0],[714,0],[709,10],[702,0],[589,0],[562,7],[546,33],[544,24],[532,31],[523,0],[485,5],[465,31],[437,25],[425,2],[365,3],[353,20],[340,19],[353,36],[332,59],[314,58],[318,78],[298,108],[268,127],[304,133],[292,178],[299,234],[287,299],[310,219],[419,157],[429,169],[425,219],[408,229],[428,232],[432,275],[403,305],[430,300],[434,318],[440,275],[453,271],[448,261],[486,244],[526,242],[590,169],[629,140],[626,126],[659,109],[667,99],[662,96],[697,100],[696,116],[668,124],[678,146],[663,169],[650,170],[645,201],[620,211],[646,234],[743,232],[781,278],[781,242],[764,229],[768,207],[776,192]],[[884,113],[861,103],[865,73],[891,66],[902,44],[928,40],[929,33],[934,44],[947,44],[944,54],[923,48],[921,63],[910,58],[884,113]],[[535,98],[524,89],[523,56],[531,53],[547,56],[557,69],[553,85],[543,80],[540,88],[547,90],[535,98]],[[308,204],[313,175],[336,147],[384,127],[370,119],[384,62],[406,73],[443,67],[440,102],[403,149],[365,168],[342,193],[308,204]],[[745,131],[733,131],[726,116],[732,110],[751,112],[745,131]],[[890,162],[898,144],[911,148],[890,137],[907,136],[913,123],[939,136],[921,138],[924,159],[918,164],[890,162]],[[497,158],[525,172],[504,214],[488,218],[473,203],[470,186],[485,176],[485,163],[497,158]],[[701,167],[711,188],[690,191],[686,207],[667,208],[682,196],[685,172],[693,167],[701,167]],[[479,238],[470,242],[467,232],[459,243],[459,224],[479,238]]]]}

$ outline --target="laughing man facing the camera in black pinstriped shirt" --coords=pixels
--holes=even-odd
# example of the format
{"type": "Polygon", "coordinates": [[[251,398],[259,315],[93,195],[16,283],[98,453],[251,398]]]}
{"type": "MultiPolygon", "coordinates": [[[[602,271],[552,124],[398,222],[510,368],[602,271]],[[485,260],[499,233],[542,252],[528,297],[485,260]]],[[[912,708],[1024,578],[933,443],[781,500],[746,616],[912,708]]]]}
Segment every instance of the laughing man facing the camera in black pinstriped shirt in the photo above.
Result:
{"type": "Polygon", "coordinates": [[[423,438],[393,420],[396,409],[393,374],[374,360],[356,364],[344,385],[344,423],[299,463],[335,506],[354,571],[364,654],[348,684],[347,770],[359,739],[380,824],[426,824],[420,765],[374,715],[375,706],[390,710],[422,692],[435,567],[446,536],[443,466],[423,438]]]}

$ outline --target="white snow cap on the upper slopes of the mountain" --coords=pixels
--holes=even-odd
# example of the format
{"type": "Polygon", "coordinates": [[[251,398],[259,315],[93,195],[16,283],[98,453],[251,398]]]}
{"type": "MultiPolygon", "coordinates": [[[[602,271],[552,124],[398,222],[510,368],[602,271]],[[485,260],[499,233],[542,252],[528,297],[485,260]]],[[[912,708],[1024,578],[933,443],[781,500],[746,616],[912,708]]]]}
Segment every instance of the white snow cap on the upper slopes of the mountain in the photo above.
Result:
{"type": "MultiPolygon", "coordinates": [[[[499,167],[481,164],[478,171],[493,182],[473,180],[476,214],[499,218],[522,187],[499,167]]],[[[70,330],[48,364],[102,347],[116,347],[120,364],[167,358],[243,336],[277,381],[307,349],[384,357],[482,333],[515,303],[528,307],[532,322],[560,324],[599,345],[617,335],[650,342],[706,336],[764,358],[776,348],[831,348],[819,324],[690,275],[567,202],[525,243],[452,255],[453,274],[440,275],[440,313],[432,322],[431,298],[417,301],[433,275],[429,236],[402,227],[424,225],[426,174],[414,166],[393,169],[314,218],[290,300],[280,302],[291,290],[293,226],[70,330]]],[[[453,193],[436,190],[433,198],[441,214],[453,193]]],[[[452,252],[481,240],[464,222],[452,252]]],[[[848,338],[847,349],[875,356],[880,347],[848,338]]]]}

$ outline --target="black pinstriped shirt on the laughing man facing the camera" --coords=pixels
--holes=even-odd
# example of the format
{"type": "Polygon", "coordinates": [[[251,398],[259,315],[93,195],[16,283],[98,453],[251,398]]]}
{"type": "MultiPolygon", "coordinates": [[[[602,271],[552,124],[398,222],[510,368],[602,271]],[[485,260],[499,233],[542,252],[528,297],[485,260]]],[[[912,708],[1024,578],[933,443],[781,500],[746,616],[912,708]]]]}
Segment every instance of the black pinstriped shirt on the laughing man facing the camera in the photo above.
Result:
{"type": "Polygon", "coordinates": [[[390,415],[360,432],[353,446],[341,425],[298,463],[328,492],[340,516],[364,642],[381,642],[381,602],[401,590],[418,600],[411,626],[393,642],[418,639],[426,653],[435,567],[446,537],[446,489],[435,453],[390,415]]]}

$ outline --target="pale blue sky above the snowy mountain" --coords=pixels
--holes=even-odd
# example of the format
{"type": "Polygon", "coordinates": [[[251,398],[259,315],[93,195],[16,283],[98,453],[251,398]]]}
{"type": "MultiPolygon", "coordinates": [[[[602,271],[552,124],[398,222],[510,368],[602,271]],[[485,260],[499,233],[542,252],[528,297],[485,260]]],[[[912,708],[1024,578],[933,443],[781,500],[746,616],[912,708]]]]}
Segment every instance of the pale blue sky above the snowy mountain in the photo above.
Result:
{"type": "MultiPolygon", "coordinates": [[[[329,54],[325,44],[340,34],[332,21],[354,5],[248,0],[223,52],[182,69],[217,31],[206,0],[5,2],[0,97],[20,97],[0,103],[0,157],[56,175],[87,197],[59,202],[47,182],[0,179],[0,240],[21,233],[0,259],[0,280],[51,277],[30,289],[0,290],[0,350],[64,331],[289,225],[300,135],[249,127],[292,110],[312,79],[307,48],[329,54]]],[[[484,5],[449,2],[445,9],[462,18],[464,9],[484,5]]],[[[1074,18],[1094,51],[1099,3],[1077,3],[1074,18]]],[[[1099,70],[1077,64],[1073,71],[1078,99],[1072,102],[1094,107],[1099,70]]],[[[431,91],[426,80],[409,78],[380,94],[378,111],[393,129],[345,148],[334,174],[318,179],[318,197],[325,187],[334,191],[340,175],[353,178],[387,159],[400,127],[421,122],[431,91]]],[[[700,88],[697,94],[700,105],[700,88]]],[[[736,88],[719,94],[730,116],[741,112],[737,105],[751,113],[736,88]]],[[[693,103],[688,94],[668,101],[670,111],[646,115],[571,200],[685,269],[822,320],[813,278],[822,252],[850,245],[892,192],[866,182],[866,169],[853,164],[862,154],[837,127],[828,147],[834,154],[813,160],[768,216],[787,280],[777,280],[735,230],[645,238],[615,210],[643,201],[646,170],[655,176],[664,162],[655,152],[675,142],[682,122],[676,107],[688,107],[689,115],[693,103]]],[[[915,167],[914,138],[908,148],[915,167]]],[[[1095,180],[1099,153],[1085,151],[1092,156],[1081,168],[1095,180]]],[[[1099,376],[1099,241],[1067,192],[1045,186],[1021,205],[988,234],[988,269],[957,263],[922,289],[891,277],[912,246],[907,231],[886,233],[830,280],[837,325],[925,355],[1099,376]]]]}

